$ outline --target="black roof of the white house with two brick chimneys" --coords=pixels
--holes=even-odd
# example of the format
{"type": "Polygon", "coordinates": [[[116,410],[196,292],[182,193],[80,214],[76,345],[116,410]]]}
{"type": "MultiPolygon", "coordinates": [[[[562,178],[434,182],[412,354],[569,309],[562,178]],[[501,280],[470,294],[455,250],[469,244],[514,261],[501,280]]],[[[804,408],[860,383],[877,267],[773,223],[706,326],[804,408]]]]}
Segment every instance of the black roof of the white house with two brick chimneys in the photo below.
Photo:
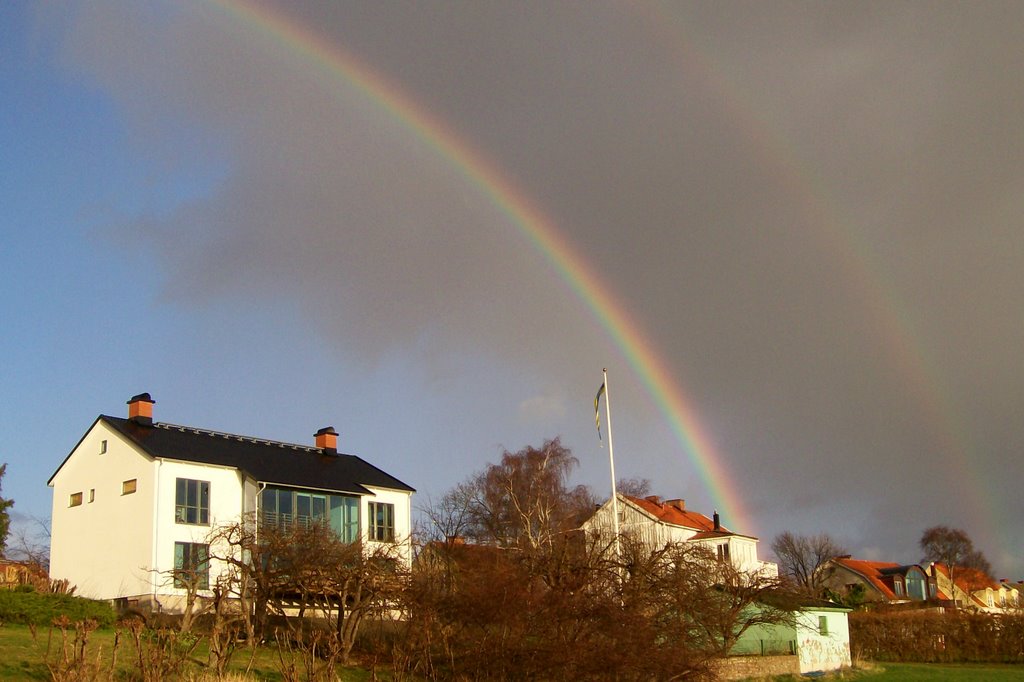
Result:
{"type": "Polygon", "coordinates": [[[123,433],[152,457],[232,467],[263,483],[358,495],[370,494],[365,485],[415,492],[415,488],[355,455],[329,455],[319,447],[190,426],[160,422],[146,426],[106,415],[101,415],[99,420],[123,433]]]}

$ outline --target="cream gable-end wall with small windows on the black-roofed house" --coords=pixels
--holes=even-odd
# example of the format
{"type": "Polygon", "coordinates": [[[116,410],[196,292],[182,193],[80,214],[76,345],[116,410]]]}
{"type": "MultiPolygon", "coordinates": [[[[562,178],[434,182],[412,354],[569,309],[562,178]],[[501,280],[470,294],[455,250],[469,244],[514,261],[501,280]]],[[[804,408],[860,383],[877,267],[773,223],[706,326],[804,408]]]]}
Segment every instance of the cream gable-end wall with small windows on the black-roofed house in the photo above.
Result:
{"type": "Polygon", "coordinates": [[[156,480],[153,459],[96,422],[51,482],[50,577],[95,599],[148,593],[156,480]],[[71,506],[73,495],[80,505],[71,506]]]}

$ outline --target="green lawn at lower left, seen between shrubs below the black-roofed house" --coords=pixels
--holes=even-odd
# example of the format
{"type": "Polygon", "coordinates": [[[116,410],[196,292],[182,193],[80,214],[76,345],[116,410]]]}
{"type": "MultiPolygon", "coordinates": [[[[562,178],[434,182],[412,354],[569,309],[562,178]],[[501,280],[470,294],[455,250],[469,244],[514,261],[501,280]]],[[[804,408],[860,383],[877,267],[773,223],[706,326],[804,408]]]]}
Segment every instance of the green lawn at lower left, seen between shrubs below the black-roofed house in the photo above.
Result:
{"type": "MultiPolygon", "coordinates": [[[[96,630],[89,636],[88,647],[86,648],[86,660],[91,666],[96,666],[105,672],[111,667],[111,652],[114,650],[114,630],[96,630]]],[[[50,631],[49,628],[39,628],[37,637],[33,639],[28,626],[6,624],[0,626],[0,680],[49,680],[50,675],[46,668],[47,638],[49,640],[49,660],[57,663],[61,656],[60,632],[50,631]]],[[[74,640],[74,631],[68,633],[68,648],[71,650],[74,640]]],[[[200,677],[206,671],[206,660],[209,651],[205,640],[196,647],[186,664],[186,672],[195,677],[200,677]]],[[[118,645],[117,670],[122,673],[118,677],[124,679],[124,674],[132,669],[136,660],[136,649],[132,643],[130,635],[123,632],[121,642],[118,645]]],[[[302,662],[295,659],[295,666],[300,671],[302,662]]],[[[249,680],[284,680],[281,674],[281,660],[276,647],[261,646],[256,649],[255,656],[251,649],[240,647],[231,658],[228,670],[239,677],[237,679],[249,680]],[[244,675],[246,668],[252,667],[249,675],[244,675]]],[[[360,668],[348,668],[339,671],[341,679],[345,682],[364,682],[371,679],[370,671],[360,668]]],[[[386,679],[386,678],[385,678],[386,679]]]]}

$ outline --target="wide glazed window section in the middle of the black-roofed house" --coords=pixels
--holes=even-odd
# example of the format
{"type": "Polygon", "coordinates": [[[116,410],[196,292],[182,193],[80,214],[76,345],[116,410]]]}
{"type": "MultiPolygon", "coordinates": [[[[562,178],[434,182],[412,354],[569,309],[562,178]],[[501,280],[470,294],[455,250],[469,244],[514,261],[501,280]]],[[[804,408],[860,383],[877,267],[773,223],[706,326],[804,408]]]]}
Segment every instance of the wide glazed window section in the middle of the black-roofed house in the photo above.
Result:
{"type": "Polygon", "coordinates": [[[295,525],[329,524],[343,541],[359,537],[359,499],[289,487],[267,486],[260,494],[260,522],[287,530],[295,525]]]}

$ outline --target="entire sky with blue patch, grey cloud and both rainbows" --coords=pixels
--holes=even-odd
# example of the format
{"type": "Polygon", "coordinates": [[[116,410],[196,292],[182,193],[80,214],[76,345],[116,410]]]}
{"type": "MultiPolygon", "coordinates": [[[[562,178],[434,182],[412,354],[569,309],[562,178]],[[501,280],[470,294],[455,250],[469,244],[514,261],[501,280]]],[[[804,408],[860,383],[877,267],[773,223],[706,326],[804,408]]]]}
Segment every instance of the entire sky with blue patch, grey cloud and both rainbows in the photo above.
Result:
{"type": "Polygon", "coordinates": [[[559,437],[761,538],[1024,579],[1024,5],[0,3],[0,463],[100,414],[426,505],[559,437]],[[602,406],[603,410],[603,406],[602,406]]]}

